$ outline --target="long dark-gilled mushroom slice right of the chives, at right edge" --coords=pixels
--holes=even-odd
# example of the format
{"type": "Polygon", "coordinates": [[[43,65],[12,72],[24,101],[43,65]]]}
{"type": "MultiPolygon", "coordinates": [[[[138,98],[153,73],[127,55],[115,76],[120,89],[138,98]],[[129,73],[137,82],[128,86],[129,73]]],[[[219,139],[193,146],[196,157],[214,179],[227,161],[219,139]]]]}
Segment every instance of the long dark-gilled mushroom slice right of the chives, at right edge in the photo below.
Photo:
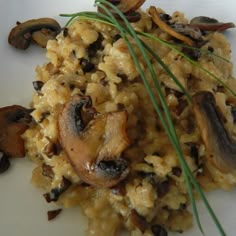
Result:
{"type": "Polygon", "coordinates": [[[236,141],[226,131],[214,95],[208,91],[193,96],[193,110],[206,147],[206,157],[222,172],[236,168],[236,141]]]}

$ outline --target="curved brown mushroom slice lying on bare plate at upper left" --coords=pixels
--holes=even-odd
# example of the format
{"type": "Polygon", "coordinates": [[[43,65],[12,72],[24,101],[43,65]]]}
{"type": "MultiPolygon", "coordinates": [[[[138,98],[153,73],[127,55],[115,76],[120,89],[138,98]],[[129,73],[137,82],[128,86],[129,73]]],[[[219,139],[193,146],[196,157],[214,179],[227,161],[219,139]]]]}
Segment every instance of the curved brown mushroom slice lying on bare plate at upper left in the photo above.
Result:
{"type": "Polygon", "coordinates": [[[46,47],[48,39],[55,38],[60,31],[58,22],[51,18],[18,22],[8,36],[8,43],[15,48],[26,49],[33,39],[41,47],[46,47]]]}

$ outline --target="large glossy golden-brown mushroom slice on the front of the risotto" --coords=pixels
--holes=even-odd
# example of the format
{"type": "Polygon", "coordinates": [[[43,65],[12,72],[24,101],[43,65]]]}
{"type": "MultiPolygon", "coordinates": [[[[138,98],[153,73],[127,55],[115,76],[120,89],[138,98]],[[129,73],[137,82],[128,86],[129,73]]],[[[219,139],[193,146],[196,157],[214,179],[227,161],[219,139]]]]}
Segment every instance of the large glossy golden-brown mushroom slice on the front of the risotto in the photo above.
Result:
{"type": "Polygon", "coordinates": [[[73,96],[59,117],[59,139],[81,180],[112,187],[129,172],[128,162],[121,157],[129,145],[127,114],[93,112],[92,116],[91,109],[89,97],[73,96]]]}

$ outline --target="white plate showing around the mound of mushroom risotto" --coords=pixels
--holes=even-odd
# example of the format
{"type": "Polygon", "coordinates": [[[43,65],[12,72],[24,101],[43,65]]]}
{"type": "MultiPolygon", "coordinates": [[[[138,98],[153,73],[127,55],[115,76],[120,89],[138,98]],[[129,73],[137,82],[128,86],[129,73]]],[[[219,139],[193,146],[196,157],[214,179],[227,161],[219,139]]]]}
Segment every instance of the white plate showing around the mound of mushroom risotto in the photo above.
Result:
{"type": "MultiPolygon", "coordinates": [[[[145,5],[155,4],[169,13],[178,9],[188,17],[206,15],[221,21],[236,22],[236,2],[232,0],[147,0],[145,5]]],[[[26,51],[20,51],[8,45],[8,33],[15,22],[53,17],[63,24],[65,19],[60,18],[59,13],[92,9],[93,0],[0,0],[0,106],[28,106],[33,91],[32,81],[35,80],[34,68],[45,61],[43,49],[30,47],[26,51]]],[[[229,30],[226,35],[232,43],[232,56],[236,63],[236,30],[229,30]]],[[[47,211],[57,207],[47,204],[42,192],[30,184],[31,170],[32,163],[26,159],[17,159],[12,161],[8,172],[0,175],[0,235],[85,235],[86,219],[78,208],[64,210],[56,220],[47,221],[47,211]]],[[[217,191],[207,196],[227,235],[234,236],[236,191],[217,191]]],[[[199,211],[206,235],[219,235],[201,203],[199,211]]],[[[194,230],[182,235],[198,236],[200,232],[195,226],[194,230]]]]}

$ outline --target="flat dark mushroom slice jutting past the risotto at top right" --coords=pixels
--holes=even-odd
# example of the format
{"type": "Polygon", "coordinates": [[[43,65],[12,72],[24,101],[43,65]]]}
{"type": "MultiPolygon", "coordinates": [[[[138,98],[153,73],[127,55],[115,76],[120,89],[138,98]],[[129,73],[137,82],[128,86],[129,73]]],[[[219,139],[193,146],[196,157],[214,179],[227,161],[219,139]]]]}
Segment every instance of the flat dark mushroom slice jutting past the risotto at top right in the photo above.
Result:
{"type": "Polygon", "coordinates": [[[198,16],[193,18],[190,21],[190,25],[206,31],[224,31],[235,27],[235,24],[232,22],[218,22],[218,20],[207,16],[198,16]]]}

